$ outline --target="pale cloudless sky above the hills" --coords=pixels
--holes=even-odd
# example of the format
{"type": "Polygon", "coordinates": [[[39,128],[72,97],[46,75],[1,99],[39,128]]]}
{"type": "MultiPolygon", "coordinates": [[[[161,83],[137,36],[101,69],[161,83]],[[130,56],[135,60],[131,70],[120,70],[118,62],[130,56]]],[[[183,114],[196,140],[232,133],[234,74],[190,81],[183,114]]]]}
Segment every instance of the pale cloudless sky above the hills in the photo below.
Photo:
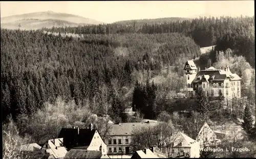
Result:
{"type": "Polygon", "coordinates": [[[1,2],[1,17],[53,11],[102,22],[161,17],[254,15],[254,1],[48,1],[1,2]]]}

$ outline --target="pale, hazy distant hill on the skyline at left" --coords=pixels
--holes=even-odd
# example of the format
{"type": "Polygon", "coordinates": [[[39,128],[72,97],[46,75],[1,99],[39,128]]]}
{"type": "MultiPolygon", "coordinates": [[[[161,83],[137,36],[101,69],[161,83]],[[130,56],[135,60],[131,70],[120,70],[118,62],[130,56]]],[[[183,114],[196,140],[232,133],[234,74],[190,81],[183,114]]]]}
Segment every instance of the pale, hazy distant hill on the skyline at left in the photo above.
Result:
{"type": "Polygon", "coordinates": [[[1,17],[1,28],[41,29],[52,27],[77,27],[79,25],[98,25],[103,22],[67,13],[35,12],[1,17]]]}

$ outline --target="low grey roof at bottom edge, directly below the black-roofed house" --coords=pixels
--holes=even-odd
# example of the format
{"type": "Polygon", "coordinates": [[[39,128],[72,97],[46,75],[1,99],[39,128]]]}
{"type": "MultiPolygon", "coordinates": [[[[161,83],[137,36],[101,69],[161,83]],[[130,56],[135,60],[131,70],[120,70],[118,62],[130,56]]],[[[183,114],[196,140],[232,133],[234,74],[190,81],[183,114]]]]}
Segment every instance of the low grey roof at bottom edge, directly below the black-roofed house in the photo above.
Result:
{"type": "Polygon", "coordinates": [[[71,149],[64,158],[100,158],[101,151],[88,151],[84,149],[71,149]]]}

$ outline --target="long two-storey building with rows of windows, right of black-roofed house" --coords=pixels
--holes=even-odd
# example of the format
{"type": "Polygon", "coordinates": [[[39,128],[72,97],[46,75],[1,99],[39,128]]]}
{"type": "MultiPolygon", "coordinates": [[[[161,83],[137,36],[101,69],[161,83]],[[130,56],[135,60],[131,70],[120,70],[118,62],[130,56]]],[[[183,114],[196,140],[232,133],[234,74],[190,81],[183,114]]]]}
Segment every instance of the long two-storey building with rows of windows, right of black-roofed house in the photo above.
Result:
{"type": "Polygon", "coordinates": [[[157,122],[119,123],[112,124],[111,132],[106,136],[105,143],[108,154],[131,154],[133,130],[143,126],[155,126],[157,122]]]}

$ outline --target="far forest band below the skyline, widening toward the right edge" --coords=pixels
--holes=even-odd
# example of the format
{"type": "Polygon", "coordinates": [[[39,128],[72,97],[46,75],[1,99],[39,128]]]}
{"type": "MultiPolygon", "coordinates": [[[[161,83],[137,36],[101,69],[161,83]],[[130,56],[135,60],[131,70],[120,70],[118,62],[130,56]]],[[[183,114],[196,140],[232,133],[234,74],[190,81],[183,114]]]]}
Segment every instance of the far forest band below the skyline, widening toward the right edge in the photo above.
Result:
{"type": "MultiPolygon", "coordinates": [[[[164,18],[163,18],[164,19],[164,18]]],[[[124,34],[143,33],[159,34],[178,32],[195,40],[200,47],[216,45],[218,51],[227,48],[236,50],[234,54],[243,55],[253,66],[255,63],[254,49],[254,16],[253,17],[201,17],[183,21],[133,21],[128,25],[125,21],[106,25],[92,25],[81,27],[52,28],[43,30],[57,33],[75,34],[124,34]]],[[[213,62],[215,57],[212,57],[213,62]]],[[[254,66],[253,66],[254,67],[254,66]]]]}

